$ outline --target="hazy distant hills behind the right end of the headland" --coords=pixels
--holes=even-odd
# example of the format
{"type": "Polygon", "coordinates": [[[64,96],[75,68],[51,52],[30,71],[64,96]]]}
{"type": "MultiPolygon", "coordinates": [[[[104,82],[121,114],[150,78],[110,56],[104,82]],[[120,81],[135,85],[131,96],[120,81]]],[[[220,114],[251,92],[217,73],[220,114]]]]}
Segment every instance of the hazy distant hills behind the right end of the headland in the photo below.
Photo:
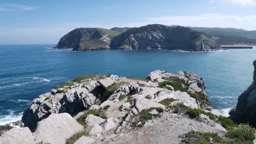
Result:
{"type": "Polygon", "coordinates": [[[256,31],[247,31],[234,28],[207,28],[207,27],[188,27],[198,32],[205,32],[211,35],[219,44],[256,44],[256,31]]]}

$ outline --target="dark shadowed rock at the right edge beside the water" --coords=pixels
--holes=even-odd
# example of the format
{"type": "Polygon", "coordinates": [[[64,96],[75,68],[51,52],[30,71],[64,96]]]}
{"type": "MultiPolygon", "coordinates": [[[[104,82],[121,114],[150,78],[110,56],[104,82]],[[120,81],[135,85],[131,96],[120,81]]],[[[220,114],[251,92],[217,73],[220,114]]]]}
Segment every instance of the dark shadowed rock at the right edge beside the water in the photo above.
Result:
{"type": "Polygon", "coordinates": [[[239,97],[237,106],[229,112],[237,123],[249,123],[256,127],[256,61],[253,61],[253,83],[239,97]]]}

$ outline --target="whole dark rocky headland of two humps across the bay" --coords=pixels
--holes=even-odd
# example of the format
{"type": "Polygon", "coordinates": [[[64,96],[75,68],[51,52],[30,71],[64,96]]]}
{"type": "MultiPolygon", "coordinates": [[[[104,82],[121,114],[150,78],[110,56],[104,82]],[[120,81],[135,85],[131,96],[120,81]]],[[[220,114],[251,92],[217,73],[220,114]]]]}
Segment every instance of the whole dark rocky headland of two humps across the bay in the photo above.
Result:
{"type": "Polygon", "coordinates": [[[136,50],[163,48],[183,51],[214,51],[221,47],[203,32],[186,27],[168,27],[149,24],[139,28],[79,28],[74,29],[55,48],[73,48],[73,51],[102,49],[136,50]],[[122,32],[120,34],[120,32],[122,32]]]}

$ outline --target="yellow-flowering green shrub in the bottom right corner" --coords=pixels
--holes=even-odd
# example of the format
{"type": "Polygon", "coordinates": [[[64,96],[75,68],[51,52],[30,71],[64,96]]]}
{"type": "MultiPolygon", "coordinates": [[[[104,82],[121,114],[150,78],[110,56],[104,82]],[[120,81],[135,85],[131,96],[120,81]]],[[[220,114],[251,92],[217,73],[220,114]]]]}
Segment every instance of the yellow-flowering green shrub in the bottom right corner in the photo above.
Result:
{"type": "Polygon", "coordinates": [[[253,144],[255,132],[256,129],[250,125],[240,124],[228,127],[226,136],[243,144],[253,144]]]}

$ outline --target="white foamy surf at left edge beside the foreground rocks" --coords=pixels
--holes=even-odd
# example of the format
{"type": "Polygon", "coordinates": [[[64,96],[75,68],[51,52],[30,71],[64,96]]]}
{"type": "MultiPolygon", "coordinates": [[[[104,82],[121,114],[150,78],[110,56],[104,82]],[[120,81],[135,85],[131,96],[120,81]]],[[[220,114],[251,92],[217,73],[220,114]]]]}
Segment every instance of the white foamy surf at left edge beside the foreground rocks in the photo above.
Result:
{"type": "Polygon", "coordinates": [[[0,125],[5,125],[8,123],[13,123],[13,122],[21,120],[23,112],[21,112],[19,114],[14,114],[14,111],[12,111],[12,110],[7,110],[7,111],[10,112],[9,115],[1,115],[0,116],[0,125]]]}

